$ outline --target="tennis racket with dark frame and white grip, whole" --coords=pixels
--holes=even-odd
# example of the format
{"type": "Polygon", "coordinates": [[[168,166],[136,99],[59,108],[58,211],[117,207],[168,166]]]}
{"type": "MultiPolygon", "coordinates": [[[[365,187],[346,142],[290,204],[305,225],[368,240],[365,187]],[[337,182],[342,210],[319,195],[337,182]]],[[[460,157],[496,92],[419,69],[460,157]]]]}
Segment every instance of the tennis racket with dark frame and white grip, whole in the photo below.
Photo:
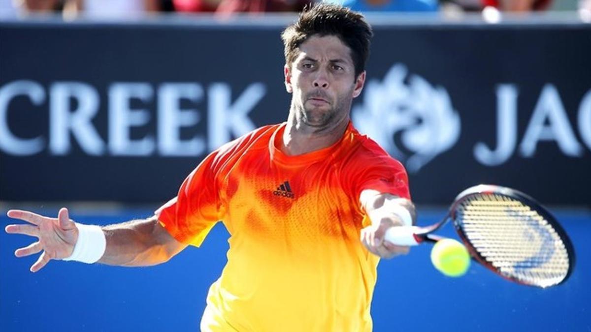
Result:
{"type": "Polygon", "coordinates": [[[550,212],[534,198],[497,185],[467,188],[439,223],[391,227],[385,239],[406,246],[437,242],[443,237],[433,232],[449,220],[472,258],[509,281],[545,288],[573,271],[573,245],[550,212]]]}

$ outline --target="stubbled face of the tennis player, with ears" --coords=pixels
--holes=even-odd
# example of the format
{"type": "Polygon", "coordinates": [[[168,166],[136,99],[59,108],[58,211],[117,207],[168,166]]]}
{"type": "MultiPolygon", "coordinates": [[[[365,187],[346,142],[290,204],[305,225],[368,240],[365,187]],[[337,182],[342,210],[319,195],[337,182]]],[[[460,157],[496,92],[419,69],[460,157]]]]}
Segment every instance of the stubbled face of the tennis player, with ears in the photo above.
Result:
{"type": "Polygon", "coordinates": [[[313,35],[299,49],[284,70],[296,121],[322,129],[348,119],[351,102],[365,82],[365,71],[355,77],[350,48],[334,35],[313,35]]]}

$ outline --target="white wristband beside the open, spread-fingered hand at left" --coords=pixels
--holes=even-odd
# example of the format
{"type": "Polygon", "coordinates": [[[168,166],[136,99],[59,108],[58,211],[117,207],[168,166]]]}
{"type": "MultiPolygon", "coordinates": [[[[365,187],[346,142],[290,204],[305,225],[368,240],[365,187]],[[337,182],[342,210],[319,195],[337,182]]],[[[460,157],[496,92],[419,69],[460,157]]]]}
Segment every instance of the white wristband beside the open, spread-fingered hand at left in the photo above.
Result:
{"type": "Polygon", "coordinates": [[[78,261],[83,263],[95,263],[105,253],[107,245],[105,233],[96,225],[76,223],[78,240],[70,257],[62,261],[78,261]]]}

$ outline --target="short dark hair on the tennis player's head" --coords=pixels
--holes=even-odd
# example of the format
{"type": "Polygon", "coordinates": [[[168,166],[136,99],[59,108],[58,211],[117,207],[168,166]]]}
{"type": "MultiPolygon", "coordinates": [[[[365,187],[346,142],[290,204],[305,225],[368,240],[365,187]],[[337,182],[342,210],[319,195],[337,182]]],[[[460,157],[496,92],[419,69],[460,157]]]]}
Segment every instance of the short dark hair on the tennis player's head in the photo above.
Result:
{"type": "Polygon", "coordinates": [[[281,33],[285,46],[285,63],[291,66],[298,47],[313,35],[336,35],[351,49],[355,77],[365,70],[369,57],[369,42],[374,33],[362,14],[332,4],[311,5],[301,12],[298,20],[281,33]]]}

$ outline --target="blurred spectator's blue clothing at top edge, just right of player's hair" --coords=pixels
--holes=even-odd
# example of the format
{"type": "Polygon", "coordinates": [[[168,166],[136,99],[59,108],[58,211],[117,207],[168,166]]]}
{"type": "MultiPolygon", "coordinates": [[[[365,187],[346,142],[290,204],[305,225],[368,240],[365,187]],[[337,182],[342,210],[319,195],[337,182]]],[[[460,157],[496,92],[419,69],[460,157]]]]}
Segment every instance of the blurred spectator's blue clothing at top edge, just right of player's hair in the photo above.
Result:
{"type": "Polygon", "coordinates": [[[433,12],[439,8],[437,0],[326,0],[325,2],[347,6],[361,12],[433,12]]]}

